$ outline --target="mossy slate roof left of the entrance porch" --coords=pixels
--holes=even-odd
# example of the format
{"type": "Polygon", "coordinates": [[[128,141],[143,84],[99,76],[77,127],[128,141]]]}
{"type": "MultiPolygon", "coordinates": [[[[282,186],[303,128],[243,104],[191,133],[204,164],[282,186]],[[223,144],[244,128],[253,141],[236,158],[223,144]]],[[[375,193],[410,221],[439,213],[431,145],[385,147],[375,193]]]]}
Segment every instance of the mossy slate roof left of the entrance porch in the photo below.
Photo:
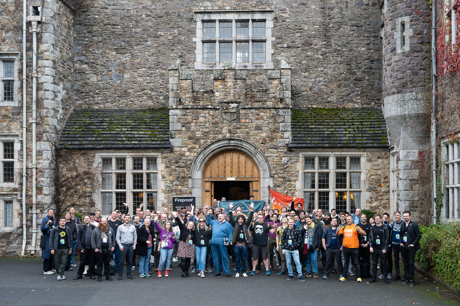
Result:
{"type": "Polygon", "coordinates": [[[169,149],[169,111],[161,109],[75,109],[59,149],[169,149]]]}

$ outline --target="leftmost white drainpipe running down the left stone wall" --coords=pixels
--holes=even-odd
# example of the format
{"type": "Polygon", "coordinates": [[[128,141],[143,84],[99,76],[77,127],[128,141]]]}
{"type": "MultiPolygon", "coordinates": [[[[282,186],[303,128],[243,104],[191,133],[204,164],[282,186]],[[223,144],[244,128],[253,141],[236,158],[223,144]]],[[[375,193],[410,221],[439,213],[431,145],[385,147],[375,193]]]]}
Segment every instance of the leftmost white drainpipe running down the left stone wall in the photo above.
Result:
{"type": "Polygon", "coordinates": [[[27,14],[27,4],[26,0],[23,1],[23,247],[21,250],[21,256],[25,255],[26,250],[26,239],[27,239],[27,218],[26,218],[26,183],[27,183],[27,146],[26,146],[26,117],[27,117],[27,107],[26,107],[26,98],[27,98],[27,74],[26,74],[26,15],[27,14]]]}

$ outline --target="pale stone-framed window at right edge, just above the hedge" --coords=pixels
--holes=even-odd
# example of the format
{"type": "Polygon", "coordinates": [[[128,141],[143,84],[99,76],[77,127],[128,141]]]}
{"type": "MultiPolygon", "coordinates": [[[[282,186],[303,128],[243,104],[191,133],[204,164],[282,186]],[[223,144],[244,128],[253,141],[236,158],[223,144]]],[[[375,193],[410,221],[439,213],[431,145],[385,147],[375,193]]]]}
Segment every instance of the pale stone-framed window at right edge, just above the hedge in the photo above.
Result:
{"type": "Polygon", "coordinates": [[[447,220],[460,219],[460,134],[456,136],[457,140],[444,140],[442,143],[445,165],[445,175],[442,177],[445,193],[441,216],[447,220]]]}

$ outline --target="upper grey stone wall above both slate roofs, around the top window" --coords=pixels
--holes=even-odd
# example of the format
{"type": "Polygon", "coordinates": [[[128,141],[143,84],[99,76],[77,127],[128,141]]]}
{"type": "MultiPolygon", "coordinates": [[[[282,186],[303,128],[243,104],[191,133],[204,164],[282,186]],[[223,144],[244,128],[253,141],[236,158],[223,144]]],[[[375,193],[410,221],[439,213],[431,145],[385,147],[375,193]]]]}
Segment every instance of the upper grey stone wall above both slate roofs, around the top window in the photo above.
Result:
{"type": "MultiPolygon", "coordinates": [[[[166,68],[194,68],[193,10],[277,10],[275,67],[292,67],[296,107],[380,105],[382,53],[377,1],[227,3],[95,0],[75,17],[75,104],[168,105],[166,68]]],[[[212,79],[202,71],[202,83],[212,79]]]]}

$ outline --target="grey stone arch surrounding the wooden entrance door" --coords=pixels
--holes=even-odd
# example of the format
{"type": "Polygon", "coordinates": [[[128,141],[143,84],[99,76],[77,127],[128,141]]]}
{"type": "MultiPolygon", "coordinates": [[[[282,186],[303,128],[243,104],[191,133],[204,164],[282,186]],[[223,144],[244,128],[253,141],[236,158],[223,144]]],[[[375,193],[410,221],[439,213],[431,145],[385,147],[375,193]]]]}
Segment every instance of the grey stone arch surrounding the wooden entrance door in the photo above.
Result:
{"type": "Polygon", "coordinates": [[[252,143],[239,138],[222,138],[205,146],[195,157],[190,168],[189,186],[196,197],[197,205],[203,203],[203,174],[213,156],[223,151],[240,151],[249,156],[257,165],[260,173],[260,200],[269,200],[268,186],[273,185],[273,175],[264,153],[252,143]]]}

